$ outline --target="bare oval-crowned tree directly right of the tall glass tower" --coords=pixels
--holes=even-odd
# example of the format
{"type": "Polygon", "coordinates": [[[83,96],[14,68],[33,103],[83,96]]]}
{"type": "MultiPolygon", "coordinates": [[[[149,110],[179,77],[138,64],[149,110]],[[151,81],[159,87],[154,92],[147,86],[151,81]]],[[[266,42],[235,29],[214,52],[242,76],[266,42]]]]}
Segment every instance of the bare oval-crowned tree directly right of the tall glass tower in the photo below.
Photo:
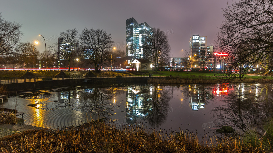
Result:
{"type": "Polygon", "coordinates": [[[145,51],[145,59],[152,61],[155,71],[163,63],[169,62],[170,50],[168,36],[159,28],[153,28],[153,34],[149,37],[150,45],[145,51]]]}

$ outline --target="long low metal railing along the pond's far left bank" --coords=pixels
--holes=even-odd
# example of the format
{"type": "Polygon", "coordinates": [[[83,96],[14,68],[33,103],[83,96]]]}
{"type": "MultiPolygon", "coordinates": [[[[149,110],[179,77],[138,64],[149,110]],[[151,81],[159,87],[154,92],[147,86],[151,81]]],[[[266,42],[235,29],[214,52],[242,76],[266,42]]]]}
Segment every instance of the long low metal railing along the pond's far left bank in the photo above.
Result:
{"type": "Polygon", "coordinates": [[[10,84],[10,83],[22,83],[22,82],[37,82],[37,81],[49,81],[49,80],[64,80],[64,79],[89,79],[89,78],[135,78],[135,77],[149,77],[149,74],[145,75],[73,75],[73,76],[46,76],[46,77],[8,77],[1,78],[0,84],[10,84]],[[120,77],[122,76],[122,77],[120,77]]]}

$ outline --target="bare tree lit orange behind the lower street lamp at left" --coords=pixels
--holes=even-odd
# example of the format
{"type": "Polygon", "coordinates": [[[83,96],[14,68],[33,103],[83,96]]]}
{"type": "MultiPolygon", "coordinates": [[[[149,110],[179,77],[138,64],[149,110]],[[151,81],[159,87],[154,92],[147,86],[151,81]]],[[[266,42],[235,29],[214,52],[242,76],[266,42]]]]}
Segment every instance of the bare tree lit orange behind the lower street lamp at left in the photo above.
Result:
{"type": "Polygon", "coordinates": [[[31,42],[20,42],[16,47],[16,53],[20,56],[20,60],[25,63],[26,66],[32,66],[32,64],[37,63],[39,51],[31,42]]]}

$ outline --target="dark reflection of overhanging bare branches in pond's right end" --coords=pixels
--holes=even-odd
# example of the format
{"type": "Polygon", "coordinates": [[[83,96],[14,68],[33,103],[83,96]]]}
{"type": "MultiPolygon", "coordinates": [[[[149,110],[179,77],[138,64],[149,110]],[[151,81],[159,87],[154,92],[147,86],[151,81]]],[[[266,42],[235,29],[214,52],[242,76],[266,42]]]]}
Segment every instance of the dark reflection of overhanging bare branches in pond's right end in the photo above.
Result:
{"type": "Polygon", "coordinates": [[[220,123],[220,126],[229,125],[238,133],[256,129],[258,133],[263,134],[264,123],[273,115],[271,87],[264,86],[258,94],[258,90],[256,93],[246,91],[244,84],[238,86],[238,90],[223,100],[225,105],[216,106],[212,110],[213,117],[217,118],[216,122],[220,123]]]}

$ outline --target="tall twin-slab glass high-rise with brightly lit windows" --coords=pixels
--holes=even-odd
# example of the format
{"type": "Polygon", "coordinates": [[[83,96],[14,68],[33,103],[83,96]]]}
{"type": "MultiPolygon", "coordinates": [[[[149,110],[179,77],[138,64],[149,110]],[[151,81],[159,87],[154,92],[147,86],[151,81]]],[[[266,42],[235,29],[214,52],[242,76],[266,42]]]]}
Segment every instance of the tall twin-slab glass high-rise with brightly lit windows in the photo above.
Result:
{"type": "Polygon", "coordinates": [[[145,59],[144,52],[150,44],[152,27],[146,22],[138,24],[134,18],[126,20],[126,59],[128,64],[135,59],[145,59]]]}

